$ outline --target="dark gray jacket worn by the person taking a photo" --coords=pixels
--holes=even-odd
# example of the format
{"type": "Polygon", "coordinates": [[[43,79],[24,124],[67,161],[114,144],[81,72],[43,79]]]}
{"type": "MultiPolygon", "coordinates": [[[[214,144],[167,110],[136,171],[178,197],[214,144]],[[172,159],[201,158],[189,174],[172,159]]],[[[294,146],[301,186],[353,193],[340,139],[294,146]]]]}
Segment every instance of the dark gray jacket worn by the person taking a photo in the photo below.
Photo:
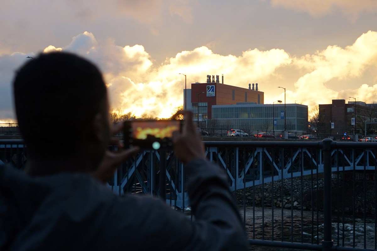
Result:
{"type": "Polygon", "coordinates": [[[195,221],[150,196],[114,195],[89,175],[0,167],[0,250],[248,250],[225,173],[186,165],[195,221]]]}

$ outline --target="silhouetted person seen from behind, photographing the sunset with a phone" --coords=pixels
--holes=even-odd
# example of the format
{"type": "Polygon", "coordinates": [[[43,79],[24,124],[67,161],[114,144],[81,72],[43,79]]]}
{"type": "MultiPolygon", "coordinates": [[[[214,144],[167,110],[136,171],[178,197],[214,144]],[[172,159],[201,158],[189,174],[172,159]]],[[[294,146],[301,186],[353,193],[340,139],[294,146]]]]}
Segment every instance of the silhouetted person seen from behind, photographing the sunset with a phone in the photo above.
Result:
{"type": "Polygon", "coordinates": [[[159,199],[104,186],[138,149],[106,150],[106,86],[86,59],[40,54],[17,71],[14,101],[28,153],[26,173],[0,167],[0,250],[248,249],[227,177],[205,160],[191,112],[173,141],[195,221],[159,199]]]}

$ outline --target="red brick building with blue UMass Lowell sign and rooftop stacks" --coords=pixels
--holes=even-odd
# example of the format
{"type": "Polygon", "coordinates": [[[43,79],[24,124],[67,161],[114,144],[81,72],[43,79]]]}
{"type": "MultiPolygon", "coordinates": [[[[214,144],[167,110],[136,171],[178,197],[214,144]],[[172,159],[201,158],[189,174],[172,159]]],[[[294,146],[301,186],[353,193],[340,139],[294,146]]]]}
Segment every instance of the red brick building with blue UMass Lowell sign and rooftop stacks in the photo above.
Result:
{"type": "MultiPolygon", "coordinates": [[[[248,85],[249,88],[236,87],[224,84],[224,76],[222,82],[219,82],[219,75],[207,75],[207,82],[191,84],[190,95],[191,110],[193,111],[193,119],[205,125],[207,119],[212,119],[212,106],[214,105],[236,105],[238,102],[247,102],[255,104],[264,103],[264,93],[258,90],[258,84],[248,85]]],[[[188,98],[189,99],[189,98],[188,98]]],[[[188,100],[189,101],[189,100],[188,100]]],[[[187,105],[189,108],[190,105],[187,105]]]]}

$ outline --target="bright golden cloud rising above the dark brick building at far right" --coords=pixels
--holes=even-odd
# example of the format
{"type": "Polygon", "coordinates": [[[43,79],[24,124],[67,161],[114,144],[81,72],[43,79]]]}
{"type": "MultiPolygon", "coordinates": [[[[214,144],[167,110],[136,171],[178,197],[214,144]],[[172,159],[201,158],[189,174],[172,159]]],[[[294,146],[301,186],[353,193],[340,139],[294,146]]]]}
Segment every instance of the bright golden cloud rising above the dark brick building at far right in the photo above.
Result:
{"type": "Polygon", "coordinates": [[[356,86],[356,89],[342,85],[347,79],[362,79],[368,67],[377,70],[377,32],[362,34],[354,44],[344,49],[328,46],[314,55],[295,58],[293,64],[305,68],[308,72],[295,82],[295,91],[291,96],[297,100],[305,97],[310,106],[331,103],[331,99],[348,99],[349,96],[363,97],[363,100],[368,100],[369,103],[377,100],[376,85],[373,83],[372,87],[361,84],[356,86]],[[340,83],[340,90],[328,84],[334,80],[340,83]],[[368,92],[365,92],[366,90],[368,92]]]}

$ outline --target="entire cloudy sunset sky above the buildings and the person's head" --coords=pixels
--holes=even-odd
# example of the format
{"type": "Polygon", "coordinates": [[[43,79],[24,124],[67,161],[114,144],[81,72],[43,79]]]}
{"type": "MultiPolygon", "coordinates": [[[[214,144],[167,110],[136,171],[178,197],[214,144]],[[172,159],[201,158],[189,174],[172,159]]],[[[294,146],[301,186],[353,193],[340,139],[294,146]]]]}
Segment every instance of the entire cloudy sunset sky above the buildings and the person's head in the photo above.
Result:
{"type": "Polygon", "coordinates": [[[2,0],[0,123],[16,122],[17,68],[53,50],[98,65],[110,106],[136,117],[183,104],[179,73],[187,88],[207,75],[258,83],[266,104],[284,100],[279,86],[309,110],[377,102],[375,0],[2,0]]]}

